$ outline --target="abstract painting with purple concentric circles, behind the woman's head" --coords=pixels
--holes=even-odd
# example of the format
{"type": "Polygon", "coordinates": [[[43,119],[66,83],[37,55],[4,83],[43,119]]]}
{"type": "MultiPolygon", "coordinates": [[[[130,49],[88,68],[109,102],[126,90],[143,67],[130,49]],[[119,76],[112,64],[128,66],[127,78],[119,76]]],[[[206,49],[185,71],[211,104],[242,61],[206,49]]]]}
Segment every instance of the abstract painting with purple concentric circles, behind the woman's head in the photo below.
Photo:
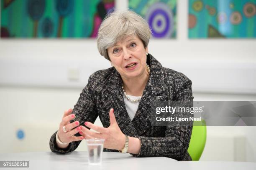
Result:
{"type": "Polygon", "coordinates": [[[129,0],[129,8],[147,20],[154,38],[176,37],[177,0],[129,0]]]}

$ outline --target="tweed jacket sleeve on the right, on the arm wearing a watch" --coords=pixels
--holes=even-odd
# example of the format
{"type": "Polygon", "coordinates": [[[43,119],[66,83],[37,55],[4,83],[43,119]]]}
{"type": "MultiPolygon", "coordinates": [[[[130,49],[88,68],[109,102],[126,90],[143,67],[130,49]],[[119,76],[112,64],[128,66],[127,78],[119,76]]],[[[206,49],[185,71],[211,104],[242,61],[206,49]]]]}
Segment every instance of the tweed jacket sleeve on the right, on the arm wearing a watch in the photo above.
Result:
{"type": "MultiPolygon", "coordinates": [[[[186,76],[182,75],[182,79],[177,78],[175,83],[176,95],[174,100],[176,101],[191,101],[186,102],[189,105],[184,104],[179,107],[193,107],[193,96],[191,85],[192,82],[186,76]]],[[[131,154],[135,157],[150,157],[150,156],[164,156],[173,158],[176,160],[183,160],[187,156],[187,148],[192,132],[193,121],[189,121],[188,124],[182,126],[167,125],[165,131],[165,137],[144,137],[139,136],[141,140],[141,150],[138,155],[131,154]]]]}

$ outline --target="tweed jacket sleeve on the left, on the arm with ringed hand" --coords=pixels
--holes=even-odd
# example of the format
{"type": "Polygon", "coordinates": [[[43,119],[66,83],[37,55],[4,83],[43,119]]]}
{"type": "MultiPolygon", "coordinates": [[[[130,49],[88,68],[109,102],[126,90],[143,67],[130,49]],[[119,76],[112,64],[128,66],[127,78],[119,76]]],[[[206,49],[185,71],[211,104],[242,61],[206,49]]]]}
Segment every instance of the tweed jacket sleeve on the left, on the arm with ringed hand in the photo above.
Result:
{"type": "MultiPolygon", "coordinates": [[[[82,90],[80,97],[77,101],[77,104],[74,105],[73,112],[75,115],[74,120],[70,122],[79,121],[80,125],[84,126],[84,122],[89,121],[94,123],[98,114],[96,111],[95,105],[95,94],[92,90],[92,84],[94,83],[93,75],[90,76],[88,84],[82,90]]],[[[52,152],[55,153],[68,153],[75,150],[81,141],[75,141],[69,143],[69,146],[65,149],[58,148],[56,144],[56,133],[57,131],[51,136],[50,138],[50,149],[52,152]]],[[[81,136],[79,133],[75,134],[74,136],[81,136]]]]}

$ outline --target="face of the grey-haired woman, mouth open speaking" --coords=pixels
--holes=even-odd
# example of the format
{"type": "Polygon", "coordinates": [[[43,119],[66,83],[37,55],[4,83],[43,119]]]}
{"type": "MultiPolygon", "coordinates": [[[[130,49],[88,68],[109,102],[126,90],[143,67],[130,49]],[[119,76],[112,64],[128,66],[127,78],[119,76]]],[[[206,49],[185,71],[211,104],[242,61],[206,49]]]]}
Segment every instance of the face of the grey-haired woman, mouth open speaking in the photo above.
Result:
{"type": "Polygon", "coordinates": [[[108,48],[108,56],[115,69],[126,79],[147,74],[146,52],[138,37],[128,36],[113,47],[108,48]]]}

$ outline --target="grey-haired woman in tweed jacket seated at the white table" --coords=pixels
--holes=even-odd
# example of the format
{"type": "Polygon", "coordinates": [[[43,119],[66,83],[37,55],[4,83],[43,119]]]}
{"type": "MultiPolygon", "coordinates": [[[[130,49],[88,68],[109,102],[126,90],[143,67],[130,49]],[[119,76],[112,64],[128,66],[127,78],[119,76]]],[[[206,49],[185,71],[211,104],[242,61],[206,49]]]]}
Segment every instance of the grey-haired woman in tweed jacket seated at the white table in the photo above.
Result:
{"type": "Polygon", "coordinates": [[[97,46],[113,67],[92,74],[74,110],[64,112],[50,139],[53,152],[71,152],[84,138],[103,138],[104,151],[191,160],[192,126],[151,126],[148,119],[155,99],[193,100],[192,82],[148,54],[150,37],[146,20],[130,10],[105,18],[97,46]],[[97,116],[103,127],[93,124],[97,116]]]}

